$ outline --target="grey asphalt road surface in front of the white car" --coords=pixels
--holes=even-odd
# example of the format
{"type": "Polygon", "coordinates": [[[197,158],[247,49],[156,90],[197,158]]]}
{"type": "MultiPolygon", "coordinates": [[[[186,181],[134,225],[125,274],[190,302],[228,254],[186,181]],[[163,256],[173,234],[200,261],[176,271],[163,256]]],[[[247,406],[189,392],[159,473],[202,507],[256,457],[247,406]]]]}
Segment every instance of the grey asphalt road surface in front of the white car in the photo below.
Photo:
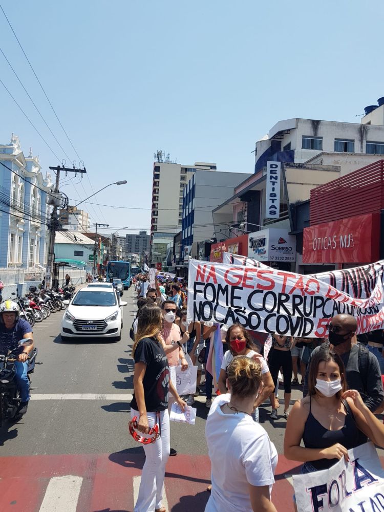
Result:
{"type": "MultiPolygon", "coordinates": [[[[31,376],[32,386],[37,389],[32,391],[24,418],[0,430],[2,456],[142,451],[127,432],[130,397],[125,398],[133,393],[129,337],[136,314],[133,290],[125,291],[123,299],[128,304],[124,308],[122,338],[117,343],[90,339],[63,343],[58,334],[61,312],[35,324],[37,359],[43,362],[31,376]],[[109,396],[68,399],[71,394],[109,396]]],[[[280,395],[283,396],[283,390],[280,395]]],[[[298,389],[293,391],[293,400],[300,396],[298,389]]],[[[200,400],[195,402],[195,426],[171,424],[171,445],[181,454],[207,454],[204,428],[208,409],[205,397],[200,400]]],[[[279,413],[282,411],[283,405],[279,413]]],[[[260,410],[260,422],[282,453],[286,422],[282,417],[271,421],[269,413],[270,406],[266,403],[260,410]]]]}

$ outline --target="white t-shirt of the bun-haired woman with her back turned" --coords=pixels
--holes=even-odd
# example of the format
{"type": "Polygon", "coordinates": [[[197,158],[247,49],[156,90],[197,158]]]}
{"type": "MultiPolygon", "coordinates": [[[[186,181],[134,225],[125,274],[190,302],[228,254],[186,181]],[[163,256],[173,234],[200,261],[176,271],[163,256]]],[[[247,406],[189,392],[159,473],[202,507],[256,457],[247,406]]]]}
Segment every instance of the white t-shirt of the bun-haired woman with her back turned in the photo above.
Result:
{"type": "Polygon", "coordinates": [[[260,423],[246,413],[224,414],[230,394],[212,402],[205,425],[212,490],[205,512],[252,512],[248,483],[274,483],[278,453],[260,423]]]}

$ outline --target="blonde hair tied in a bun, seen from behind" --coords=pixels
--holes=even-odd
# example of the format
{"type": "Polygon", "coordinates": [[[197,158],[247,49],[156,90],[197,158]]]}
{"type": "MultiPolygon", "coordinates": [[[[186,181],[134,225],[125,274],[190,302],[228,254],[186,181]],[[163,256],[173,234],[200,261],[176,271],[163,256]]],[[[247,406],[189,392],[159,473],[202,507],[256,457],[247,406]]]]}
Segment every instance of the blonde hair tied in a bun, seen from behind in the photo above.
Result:
{"type": "Polygon", "coordinates": [[[227,368],[232,395],[257,395],[262,382],[261,366],[245,355],[233,357],[227,368]]]}

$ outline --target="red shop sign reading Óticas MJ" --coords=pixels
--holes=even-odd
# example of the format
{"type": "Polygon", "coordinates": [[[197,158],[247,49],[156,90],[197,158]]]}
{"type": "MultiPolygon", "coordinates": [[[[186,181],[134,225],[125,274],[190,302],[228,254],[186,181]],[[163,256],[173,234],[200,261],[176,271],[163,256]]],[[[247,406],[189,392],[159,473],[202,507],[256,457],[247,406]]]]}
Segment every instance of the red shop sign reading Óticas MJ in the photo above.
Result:
{"type": "Polygon", "coordinates": [[[304,229],[304,263],[371,263],[379,257],[379,214],[348,217],[304,229]]]}

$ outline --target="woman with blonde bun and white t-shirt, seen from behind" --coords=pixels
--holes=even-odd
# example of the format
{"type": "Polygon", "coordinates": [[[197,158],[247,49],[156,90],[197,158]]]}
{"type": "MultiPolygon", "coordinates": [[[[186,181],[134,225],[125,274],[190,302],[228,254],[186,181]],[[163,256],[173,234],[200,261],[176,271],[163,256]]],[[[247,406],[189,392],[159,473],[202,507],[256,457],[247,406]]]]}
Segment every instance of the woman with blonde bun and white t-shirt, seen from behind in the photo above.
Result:
{"type": "Polygon", "coordinates": [[[278,454],[251,417],[263,389],[261,366],[236,356],[227,374],[230,392],[215,398],[205,425],[212,480],[205,512],[276,512],[271,490],[278,454]]]}

